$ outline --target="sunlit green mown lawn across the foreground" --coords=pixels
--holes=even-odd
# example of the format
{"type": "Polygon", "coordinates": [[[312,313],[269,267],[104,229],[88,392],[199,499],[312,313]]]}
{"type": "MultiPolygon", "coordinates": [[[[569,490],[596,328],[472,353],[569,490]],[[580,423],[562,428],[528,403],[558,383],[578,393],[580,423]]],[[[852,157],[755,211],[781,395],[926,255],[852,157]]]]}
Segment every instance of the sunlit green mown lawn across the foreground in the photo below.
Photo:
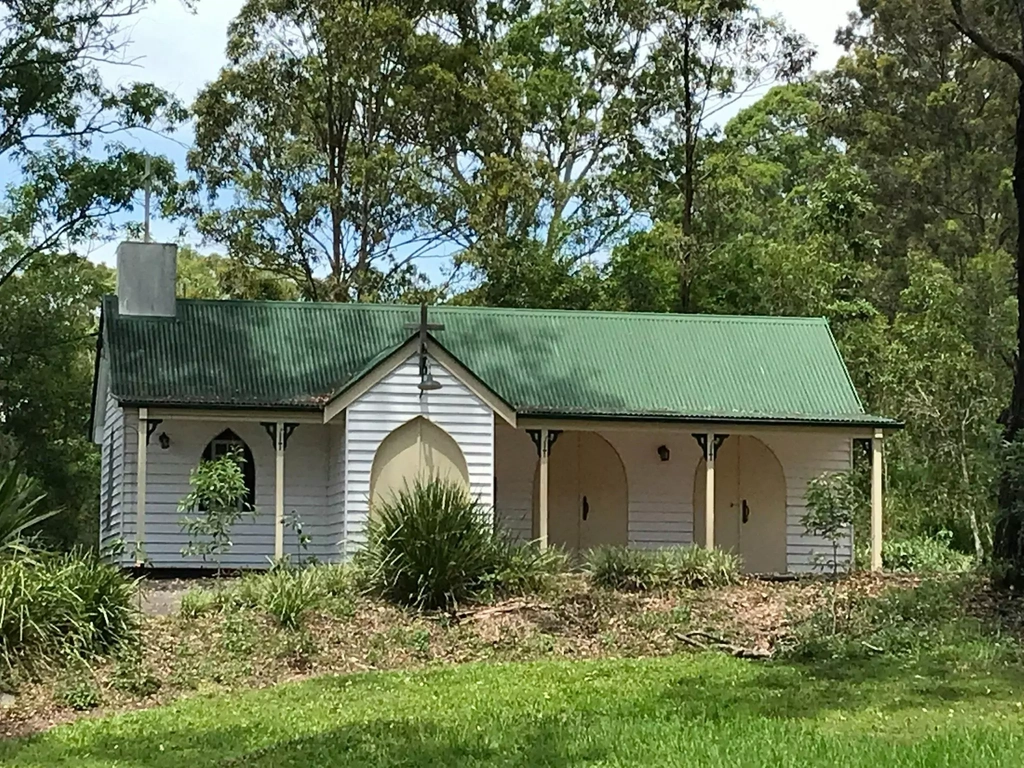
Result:
{"type": "Polygon", "coordinates": [[[0,765],[1019,766],[1024,673],[720,655],[327,677],[82,720],[0,765]]]}

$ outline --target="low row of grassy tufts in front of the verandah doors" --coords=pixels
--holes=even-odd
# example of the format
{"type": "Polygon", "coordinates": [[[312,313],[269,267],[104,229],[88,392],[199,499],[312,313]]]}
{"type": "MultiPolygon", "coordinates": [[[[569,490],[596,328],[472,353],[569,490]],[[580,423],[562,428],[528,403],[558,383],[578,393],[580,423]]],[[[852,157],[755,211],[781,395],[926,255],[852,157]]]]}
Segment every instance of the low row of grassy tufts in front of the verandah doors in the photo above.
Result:
{"type": "Polygon", "coordinates": [[[587,554],[586,570],[598,587],[642,592],[722,587],[739,581],[739,558],[722,550],[673,547],[636,550],[601,547],[587,554]]]}

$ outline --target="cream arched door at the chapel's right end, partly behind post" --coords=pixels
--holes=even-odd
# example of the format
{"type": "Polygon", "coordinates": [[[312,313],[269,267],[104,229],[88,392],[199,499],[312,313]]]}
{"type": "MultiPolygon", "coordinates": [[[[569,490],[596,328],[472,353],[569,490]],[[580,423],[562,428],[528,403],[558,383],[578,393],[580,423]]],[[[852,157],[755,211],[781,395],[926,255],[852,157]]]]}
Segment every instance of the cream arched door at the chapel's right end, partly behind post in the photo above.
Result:
{"type": "MultiPolygon", "coordinates": [[[[693,541],[705,541],[705,461],[693,477],[693,541]]],[[[786,571],[785,474],[757,437],[733,435],[715,457],[715,546],[749,573],[786,571]]]]}

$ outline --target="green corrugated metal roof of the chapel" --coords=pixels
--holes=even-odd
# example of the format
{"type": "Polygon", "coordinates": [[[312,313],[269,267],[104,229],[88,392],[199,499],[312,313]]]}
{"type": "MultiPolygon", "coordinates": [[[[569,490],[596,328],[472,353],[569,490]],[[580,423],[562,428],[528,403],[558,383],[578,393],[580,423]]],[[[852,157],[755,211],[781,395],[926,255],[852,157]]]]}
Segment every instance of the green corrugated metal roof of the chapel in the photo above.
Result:
{"type": "MultiPolygon", "coordinates": [[[[404,342],[419,307],[103,303],[124,402],[319,408],[404,342]]],[[[860,404],[825,321],[432,307],[436,339],[520,416],[895,424],[860,404]]]]}

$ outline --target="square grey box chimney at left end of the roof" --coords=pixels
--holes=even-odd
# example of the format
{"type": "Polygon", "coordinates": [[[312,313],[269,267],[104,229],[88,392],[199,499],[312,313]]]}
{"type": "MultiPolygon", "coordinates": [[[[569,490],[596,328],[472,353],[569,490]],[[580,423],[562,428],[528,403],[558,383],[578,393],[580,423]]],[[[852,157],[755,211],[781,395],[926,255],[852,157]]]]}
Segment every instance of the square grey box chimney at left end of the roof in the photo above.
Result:
{"type": "Polygon", "coordinates": [[[173,317],[178,247],[164,243],[118,246],[118,311],[173,317]]]}

